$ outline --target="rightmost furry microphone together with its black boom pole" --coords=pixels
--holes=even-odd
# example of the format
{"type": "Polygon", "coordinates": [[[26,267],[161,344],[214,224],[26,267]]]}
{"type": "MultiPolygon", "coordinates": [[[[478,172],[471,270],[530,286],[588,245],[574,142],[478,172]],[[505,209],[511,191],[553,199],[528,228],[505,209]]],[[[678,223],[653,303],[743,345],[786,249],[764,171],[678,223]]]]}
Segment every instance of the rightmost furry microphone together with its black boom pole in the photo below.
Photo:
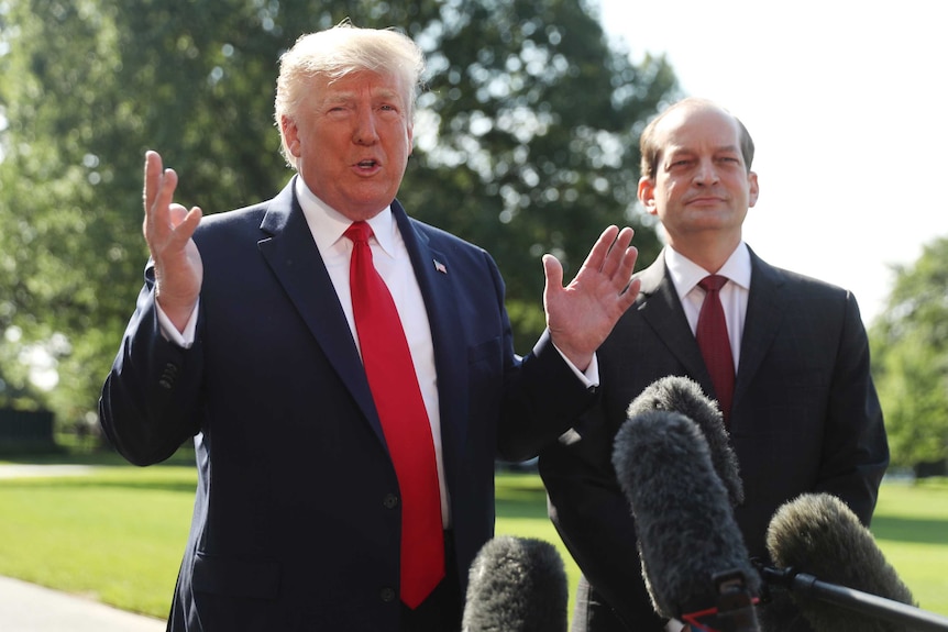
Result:
{"type": "MultiPolygon", "coordinates": [[[[948,630],[948,618],[915,607],[872,533],[835,496],[804,494],[781,506],[768,526],[767,547],[779,568],[763,568],[765,581],[789,588],[817,632],[948,630]]],[[[785,608],[774,603],[778,611],[785,608]]],[[[779,620],[768,608],[761,620],[779,620]]]]}

